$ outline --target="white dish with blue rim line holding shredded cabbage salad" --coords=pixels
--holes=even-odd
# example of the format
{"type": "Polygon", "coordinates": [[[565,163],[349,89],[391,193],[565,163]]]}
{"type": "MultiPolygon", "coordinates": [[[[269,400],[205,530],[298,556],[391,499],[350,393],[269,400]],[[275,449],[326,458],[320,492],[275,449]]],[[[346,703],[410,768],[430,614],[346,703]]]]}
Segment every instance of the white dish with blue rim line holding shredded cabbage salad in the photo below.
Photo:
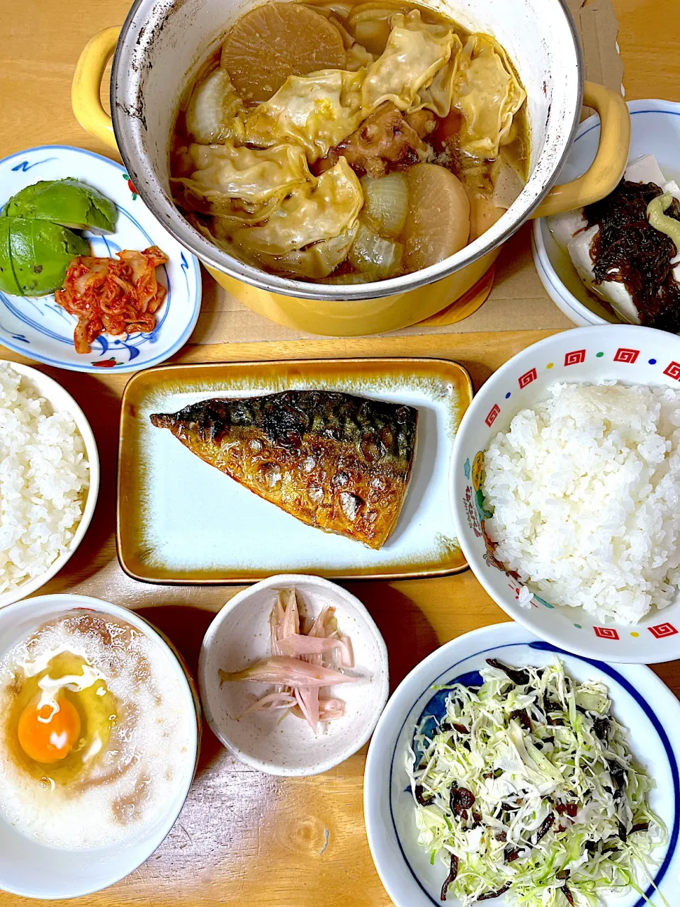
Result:
{"type": "MultiPolygon", "coordinates": [[[[395,907],[432,907],[440,904],[447,868],[417,844],[413,795],[403,767],[413,728],[425,714],[437,713],[442,693],[432,685],[455,680],[479,683],[476,672],[485,658],[500,658],[510,665],[545,665],[558,649],[537,639],[519,624],[497,624],[452,639],[432,652],[396,688],[374,731],[364,774],[364,817],[375,867],[395,907]]],[[[657,852],[659,865],[654,881],[668,904],[677,903],[680,873],[680,705],[656,675],[643,666],[609,666],[588,658],[559,652],[568,674],[580,681],[597,679],[607,684],[614,700],[614,714],[631,728],[631,747],[637,759],[656,779],[650,804],[668,830],[668,844],[657,852]]],[[[441,713],[440,713],[441,714],[441,713]]],[[[646,894],[657,904],[651,886],[646,894]]],[[[460,901],[450,897],[449,907],[460,901]]],[[[490,902],[507,907],[506,898],[490,902]]],[[[646,907],[634,892],[605,899],[603,907],[646,907]]]]}

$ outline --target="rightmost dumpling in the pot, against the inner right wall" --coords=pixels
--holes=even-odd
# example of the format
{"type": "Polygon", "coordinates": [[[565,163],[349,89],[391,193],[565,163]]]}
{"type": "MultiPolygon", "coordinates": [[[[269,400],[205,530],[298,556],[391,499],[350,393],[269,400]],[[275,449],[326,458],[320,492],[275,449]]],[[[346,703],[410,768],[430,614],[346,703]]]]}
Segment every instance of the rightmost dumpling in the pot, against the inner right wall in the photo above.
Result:
{"type": "Polygon", "coordinates": [[[525,97],[500,44],[488,34],[471,34],[453,84],[453,106],[464,118],[461,151],[495,161],[525,97]]]}

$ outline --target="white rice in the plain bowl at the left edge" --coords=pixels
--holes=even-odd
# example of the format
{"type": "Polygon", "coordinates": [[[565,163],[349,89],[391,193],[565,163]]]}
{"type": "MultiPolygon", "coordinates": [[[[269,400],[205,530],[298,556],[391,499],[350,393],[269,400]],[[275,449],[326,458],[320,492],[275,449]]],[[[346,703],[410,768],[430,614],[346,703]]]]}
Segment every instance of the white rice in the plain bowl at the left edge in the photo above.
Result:
{"type": "Polygon", "coordinates": [[[0,594],[40,576],[83,516],[90,464],[73,416],[0,364],[0,594]]]}

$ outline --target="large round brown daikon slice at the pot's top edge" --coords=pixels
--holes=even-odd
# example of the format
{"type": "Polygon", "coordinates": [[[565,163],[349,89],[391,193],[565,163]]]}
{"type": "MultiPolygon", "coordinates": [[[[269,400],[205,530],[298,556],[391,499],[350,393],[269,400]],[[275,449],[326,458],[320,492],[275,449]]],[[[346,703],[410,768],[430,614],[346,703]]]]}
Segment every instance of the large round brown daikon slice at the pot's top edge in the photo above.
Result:
{"type": "Polygon", "coordinates": [[[345,44],[325,15],[296,3],[269,3],[241,16],[222,45],[221,64],[245,102],[261,102],[289,75],[342,69],[345,44]]]}

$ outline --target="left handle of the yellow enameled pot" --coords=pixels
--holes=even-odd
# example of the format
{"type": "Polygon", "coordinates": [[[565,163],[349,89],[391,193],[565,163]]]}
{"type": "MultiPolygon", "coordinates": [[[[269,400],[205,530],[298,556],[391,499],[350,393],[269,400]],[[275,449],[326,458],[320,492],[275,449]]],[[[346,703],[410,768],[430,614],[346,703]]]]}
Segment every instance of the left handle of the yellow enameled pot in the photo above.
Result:
{"type": "Polygon", "coordinates": [[[111,117],[102,107],[100,88],[106,63],[116,49],[119,25],[104,28],[83,47],[83,52],[75,64],[73,82],[71,83],[71,106],[75,119],[95,138],[118,151],[116,137],[113,134],[111,117]]]}

